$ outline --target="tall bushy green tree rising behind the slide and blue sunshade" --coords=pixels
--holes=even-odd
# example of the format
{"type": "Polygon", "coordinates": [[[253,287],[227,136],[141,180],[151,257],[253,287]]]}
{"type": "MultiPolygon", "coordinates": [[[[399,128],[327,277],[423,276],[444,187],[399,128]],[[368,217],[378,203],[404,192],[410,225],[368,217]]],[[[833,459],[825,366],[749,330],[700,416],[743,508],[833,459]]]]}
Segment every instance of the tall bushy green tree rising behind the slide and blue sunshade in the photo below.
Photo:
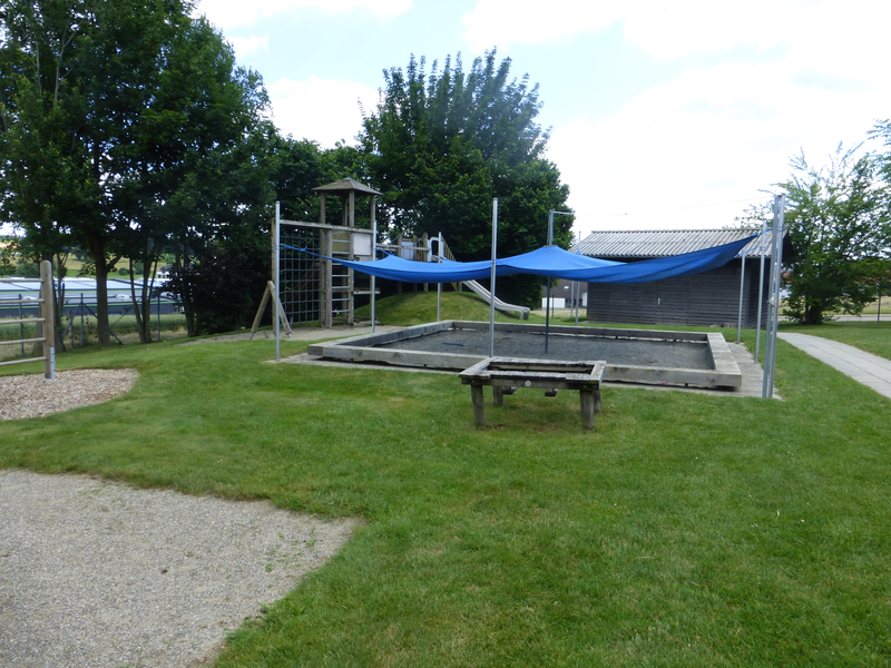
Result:
{"type": "MultiPolygon", "coordinates": [[[[528,75],[510,78],[510,59],[496,51],[464,72],[460,56],[428,77],[412,56],[383,72],[385,88],[365,115],[360,141],[382,197],[381,226],[399,234],[442,233],[460,259],[491,253],[492,198],[499,198],[501,256],[547,242],[548,210],[565,210],[569,188],[545,159],[548,132],[535,122],[541,104],[528,75]]],[[[555,243],[571,240],[571,218],[555,218],[555,243]]],[[[506,298],[540,294],[540,278],[506,279],[506,298]]]]}

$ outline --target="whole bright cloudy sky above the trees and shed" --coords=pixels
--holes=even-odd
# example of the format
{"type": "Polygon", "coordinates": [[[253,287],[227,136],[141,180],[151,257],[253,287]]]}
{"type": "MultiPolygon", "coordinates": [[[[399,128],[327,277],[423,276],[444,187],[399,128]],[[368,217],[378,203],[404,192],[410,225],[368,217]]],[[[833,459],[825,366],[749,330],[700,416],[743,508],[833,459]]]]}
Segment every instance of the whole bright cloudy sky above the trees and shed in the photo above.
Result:
{"type": "MultiPolygon", "coordinates": [[[[284,134],[353,141],[411,53],[487,49],[540,85],[577,232],[722,227],[803,150],[891,117],[891,3],[863,0],[202,0],[284,134]]],[[[879,148],[878,143],[866,147],[879,148]]]]}

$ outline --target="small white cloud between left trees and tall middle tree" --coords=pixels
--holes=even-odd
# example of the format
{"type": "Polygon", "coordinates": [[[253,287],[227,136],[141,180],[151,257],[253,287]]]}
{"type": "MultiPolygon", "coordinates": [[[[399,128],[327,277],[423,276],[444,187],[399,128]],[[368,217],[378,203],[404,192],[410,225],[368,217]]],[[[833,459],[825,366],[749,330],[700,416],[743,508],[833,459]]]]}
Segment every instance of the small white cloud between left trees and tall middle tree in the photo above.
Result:
{"type": "Polygon", "coordinates": [[[347,144],[362,127],[359,101],[366,111],[378,104],[378,91],[353,81],[310,77],[306,81],[281,79],[270,86],[273,120],[284,135],[312,139],[323,148],[347,144]]]}

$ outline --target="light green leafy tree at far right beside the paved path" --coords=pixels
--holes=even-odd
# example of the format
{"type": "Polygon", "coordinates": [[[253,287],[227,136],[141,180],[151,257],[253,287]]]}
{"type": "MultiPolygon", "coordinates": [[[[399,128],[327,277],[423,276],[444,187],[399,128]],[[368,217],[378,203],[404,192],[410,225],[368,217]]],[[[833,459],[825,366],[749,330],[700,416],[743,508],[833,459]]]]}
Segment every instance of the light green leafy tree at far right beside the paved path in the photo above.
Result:
{"type": "Polygon", "coordinates": [[[889,187],[875,156],[859,147],[830,157],[815,168],[804,155],[780,184],[789,195],[786,226],[793,247],[784,258],[790,286],[784,312],[803,324],[820,324],[826,313],[860,313],[875,295],[875,281],[889,255],[889,187]]]}

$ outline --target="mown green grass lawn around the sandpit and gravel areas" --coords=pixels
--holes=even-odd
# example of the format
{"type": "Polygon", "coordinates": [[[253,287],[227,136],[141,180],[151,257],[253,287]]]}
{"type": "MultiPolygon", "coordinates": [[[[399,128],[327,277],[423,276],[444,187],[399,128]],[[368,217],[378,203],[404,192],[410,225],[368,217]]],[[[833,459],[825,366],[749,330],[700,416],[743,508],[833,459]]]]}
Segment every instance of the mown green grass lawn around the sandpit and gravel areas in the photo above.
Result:
{"type": "Polygon", "coordinates": [[[891,404],[782,341],[784,401],[607,387],[586,433],[574,393],[477,430],[453,375],[272,357],[87,348],[135,389],[0,423],[2,466],[366,521],[219,666],[891,664],[891,404]]]}

